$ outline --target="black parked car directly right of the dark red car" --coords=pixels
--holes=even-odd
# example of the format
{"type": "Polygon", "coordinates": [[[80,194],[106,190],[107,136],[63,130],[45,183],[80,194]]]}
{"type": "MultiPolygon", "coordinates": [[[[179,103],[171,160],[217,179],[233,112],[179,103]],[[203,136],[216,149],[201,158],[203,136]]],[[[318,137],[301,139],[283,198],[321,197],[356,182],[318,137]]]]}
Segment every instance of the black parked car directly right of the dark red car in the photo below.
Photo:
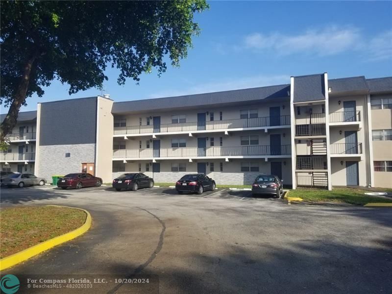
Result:
{"type": "Polygon", "coordinates": [[[115,178],[112,186],[116,191],[121,191],[121,189],[137,191],[139,188],[154,187],[154,180],[144,173],[129,172],[115,178]]]}

